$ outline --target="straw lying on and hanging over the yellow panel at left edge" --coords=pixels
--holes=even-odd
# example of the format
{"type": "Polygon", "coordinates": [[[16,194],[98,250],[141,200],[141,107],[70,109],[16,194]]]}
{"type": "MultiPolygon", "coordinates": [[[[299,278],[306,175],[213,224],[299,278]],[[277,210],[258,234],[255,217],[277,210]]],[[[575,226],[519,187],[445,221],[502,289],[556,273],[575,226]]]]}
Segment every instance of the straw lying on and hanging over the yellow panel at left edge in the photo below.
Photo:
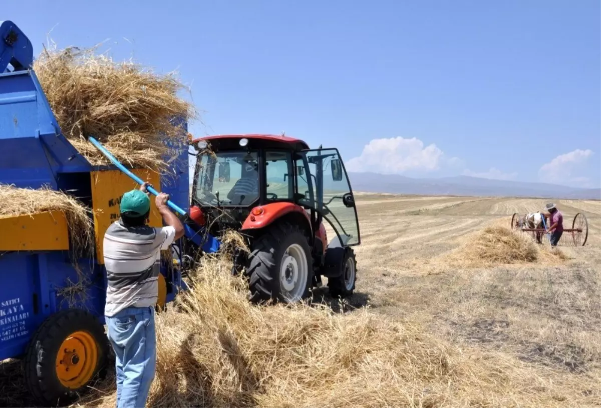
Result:
{"type": "Polygon", "coordinates": [[[91,250],[94,242],[91,210],[75,197],[49,188],[33,190],[0,184],[0,216],[55,210],[66,215],[73,255],[78,257],[91,250]]]}

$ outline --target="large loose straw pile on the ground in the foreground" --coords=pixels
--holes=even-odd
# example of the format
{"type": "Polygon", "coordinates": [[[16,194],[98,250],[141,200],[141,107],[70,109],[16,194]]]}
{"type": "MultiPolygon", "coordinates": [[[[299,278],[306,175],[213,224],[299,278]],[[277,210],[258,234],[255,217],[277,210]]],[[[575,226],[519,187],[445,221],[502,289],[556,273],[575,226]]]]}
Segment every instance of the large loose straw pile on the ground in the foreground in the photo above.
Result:
{"type": "MultiPolygon", "coordinates": [[[[148,407],[556,407],[594,398],[582,391],[598,378],[567,380],[459,349],[369,310],[253,306],[229,268],[206,260],[194,290],[157,315],[148,407]]],[[[114,378],[95,388],[76,406],[115,406],[114,378]]]]}

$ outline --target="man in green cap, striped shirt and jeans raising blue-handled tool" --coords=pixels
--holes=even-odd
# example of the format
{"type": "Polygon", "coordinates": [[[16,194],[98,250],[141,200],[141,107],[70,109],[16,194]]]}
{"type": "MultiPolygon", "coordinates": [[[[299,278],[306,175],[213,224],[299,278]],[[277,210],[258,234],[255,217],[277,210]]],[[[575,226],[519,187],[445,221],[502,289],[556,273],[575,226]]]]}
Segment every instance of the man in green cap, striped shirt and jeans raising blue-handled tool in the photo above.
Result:
{"type": "MultiPolygon", "coordinates": [[[[160,250],[184,234],[168,206],[169,196],[156,199],[166,227],[150,227],[148,183],[121,197],[121,218],[108,227],[103,241],[108,287],[105,317],[115,351],[117,408],[144,408],[154,379],[160,250]]],[[[151,185],[150,185],[151,186],[151,185]]]]}

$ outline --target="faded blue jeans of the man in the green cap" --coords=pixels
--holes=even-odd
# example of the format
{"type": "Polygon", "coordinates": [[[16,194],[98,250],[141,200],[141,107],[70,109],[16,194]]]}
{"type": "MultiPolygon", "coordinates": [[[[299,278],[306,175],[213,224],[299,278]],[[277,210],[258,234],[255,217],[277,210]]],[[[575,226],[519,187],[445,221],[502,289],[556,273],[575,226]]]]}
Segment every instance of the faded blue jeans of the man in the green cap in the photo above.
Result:
{"type": "Polygon", "coordinates": [[[129,307],[105,320],[115,350],[117,408],[144,408],[156,365],[154,309],[129,307]]]}

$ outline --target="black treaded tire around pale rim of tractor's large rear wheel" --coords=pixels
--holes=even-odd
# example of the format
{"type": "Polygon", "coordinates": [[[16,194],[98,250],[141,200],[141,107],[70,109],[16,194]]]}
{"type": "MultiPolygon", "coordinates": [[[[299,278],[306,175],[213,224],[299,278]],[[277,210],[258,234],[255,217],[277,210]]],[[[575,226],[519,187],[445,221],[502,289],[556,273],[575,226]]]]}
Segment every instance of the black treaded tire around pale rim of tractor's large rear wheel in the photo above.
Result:
{"type": "Polygon", "coordinates": [[[249,276],[249,301],[287,302],[281,294],[278,275],[284,251],[292,244],[301,245],[307,256],[307,284],[302,299],[310,297],[314,272],[309,238],[299,226],[277,223],[252,242],[246,268],[249,276]]]}

